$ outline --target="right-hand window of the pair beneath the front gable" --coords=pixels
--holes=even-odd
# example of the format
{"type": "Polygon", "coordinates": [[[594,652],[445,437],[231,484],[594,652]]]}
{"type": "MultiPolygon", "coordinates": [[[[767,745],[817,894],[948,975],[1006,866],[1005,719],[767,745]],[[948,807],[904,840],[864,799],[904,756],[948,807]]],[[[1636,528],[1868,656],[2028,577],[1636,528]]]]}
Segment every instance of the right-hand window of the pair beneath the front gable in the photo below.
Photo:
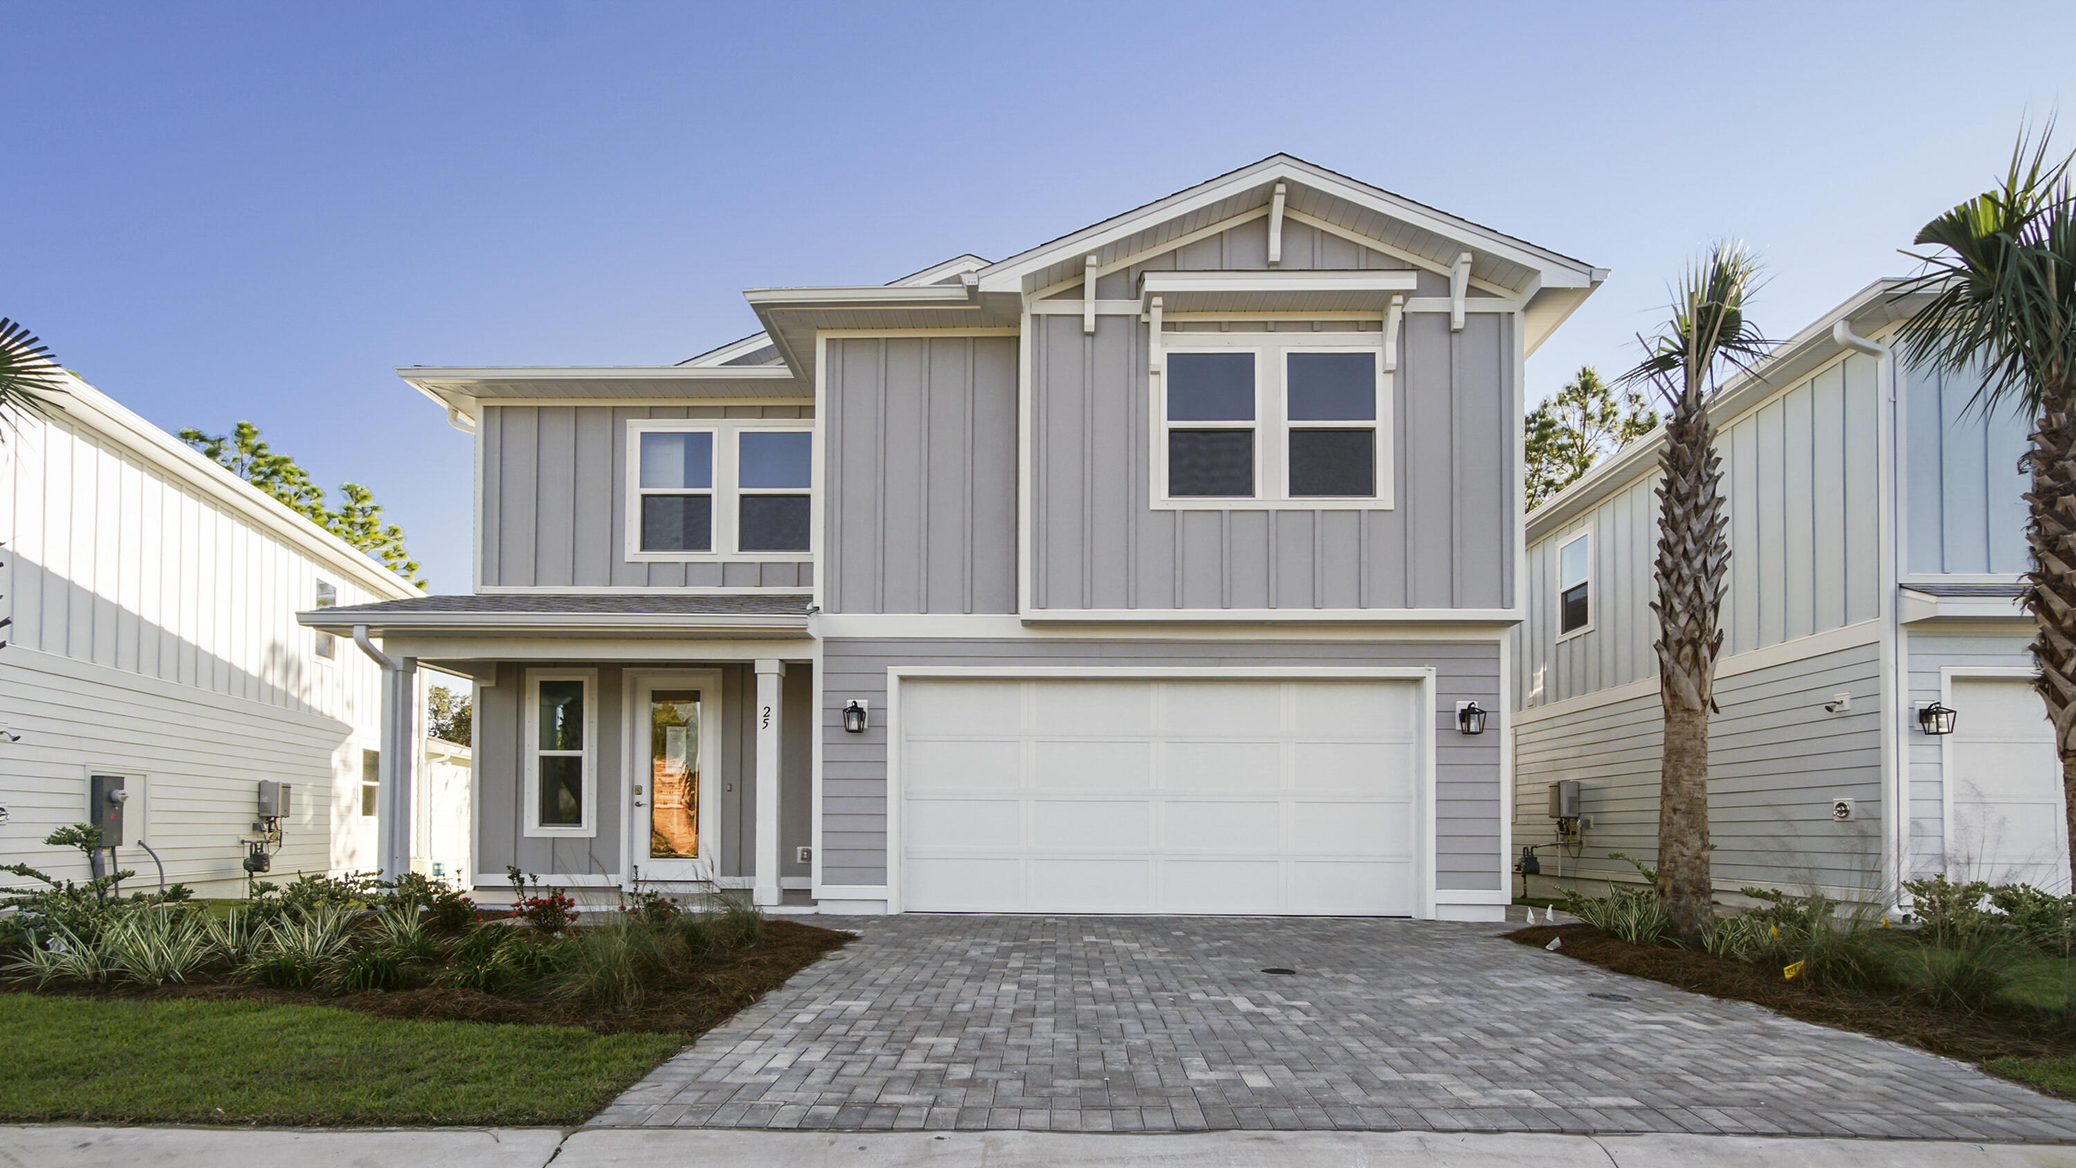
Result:
{"type": "Polygon", "coordinates": [[[1285,353],[1291,498],[1376,494],[1376,355],[1285,353]]]}

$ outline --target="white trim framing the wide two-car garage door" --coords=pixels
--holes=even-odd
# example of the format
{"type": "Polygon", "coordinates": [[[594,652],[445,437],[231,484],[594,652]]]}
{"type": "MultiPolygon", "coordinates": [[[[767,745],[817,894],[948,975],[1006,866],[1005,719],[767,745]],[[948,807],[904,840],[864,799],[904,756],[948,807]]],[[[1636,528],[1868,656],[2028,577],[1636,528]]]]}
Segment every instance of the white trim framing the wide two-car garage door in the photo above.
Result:
{"type": "MultiPolygon", "coordinates": [[[[820,670],[816,670],[820,676],[820,670]]],[[[1410,680],[1418,687],[1414,716],[1416,753],[1422,757],[1422,776],[1414,782],[1420,824],[1416,830],[1424,840],[1414,855],[1414,915],[1435,919],[1441,896],[1451,900],[1464,896],[1484,896],[1482,892],[1439,892],[1435,888],[1437,849],[1437,759],[1435,759],[1435,710],[1437,678],[1435,666],[889,666],[886,668],[886,913],[901,911],[901,859],[903,840],[903,786],[901,786],[901,683],[911,678],[947,680],[1073,680],[1073,678],[1144,678],[1144,680],[1410,680]]],[[[820,815],[818,815],[820,817],[820,815]]],[[[816,846],[816,859],[822,851],[816,846]]],[[[1501,853],[1505,859],[1505,853],[1501,853]]],[[[835,890],[816,886],[816,900],[835,890]]]]}

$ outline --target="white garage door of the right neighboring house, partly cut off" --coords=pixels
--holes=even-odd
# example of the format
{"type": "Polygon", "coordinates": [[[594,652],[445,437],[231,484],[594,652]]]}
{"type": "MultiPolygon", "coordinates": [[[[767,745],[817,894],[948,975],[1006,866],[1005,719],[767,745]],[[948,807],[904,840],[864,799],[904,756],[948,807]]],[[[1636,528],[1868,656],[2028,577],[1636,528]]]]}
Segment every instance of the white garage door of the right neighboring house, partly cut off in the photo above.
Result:
{"type": "Polygon", "coordinates": [[[2026,680],[1954,680],[1947,867],[1956,880],[2068,892],[2068,817],[2047,705],[2026,680]]]}

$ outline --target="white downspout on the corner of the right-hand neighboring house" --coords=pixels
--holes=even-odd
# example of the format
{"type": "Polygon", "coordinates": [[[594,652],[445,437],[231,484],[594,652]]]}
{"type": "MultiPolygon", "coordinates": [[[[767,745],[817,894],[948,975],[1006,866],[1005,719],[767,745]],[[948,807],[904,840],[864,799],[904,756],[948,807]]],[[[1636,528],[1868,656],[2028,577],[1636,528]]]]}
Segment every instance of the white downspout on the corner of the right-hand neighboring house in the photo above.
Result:
{"type": "Polygon", "coordinates": [[[1904,880],[1910,875],[1910,751],[1904,749],[1908,722],[1904,705],[1910,703],[1910,662],[1902,645],[1902,629],[1895,622],[1895,591],[1902,583],[1902,564],[1895,562],[1895,351],[1879,340],[1868,340],[1852,330],[1848,322],[1831,326],[1831,340],[1875,359],[1877,429],[1875,477],[1877,477],[1877,525],[1881,558],[1881,664],[1885,699],[1881,703],[1881,878],[1887,888],[1881,894],[1889,900],[1891,915],[1900,911],[1904,880]]]}

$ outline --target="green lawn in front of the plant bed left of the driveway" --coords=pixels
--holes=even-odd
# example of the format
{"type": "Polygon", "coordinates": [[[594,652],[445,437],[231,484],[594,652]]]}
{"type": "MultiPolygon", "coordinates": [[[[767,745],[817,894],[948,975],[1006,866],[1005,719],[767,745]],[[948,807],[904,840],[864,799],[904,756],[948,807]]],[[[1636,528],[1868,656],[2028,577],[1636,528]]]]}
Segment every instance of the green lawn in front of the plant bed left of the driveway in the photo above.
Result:
{"type": "Polygon", "coordinates": [[[0,1120],[575,1124],[685,1039],[0,994],[0,1120]]]}

